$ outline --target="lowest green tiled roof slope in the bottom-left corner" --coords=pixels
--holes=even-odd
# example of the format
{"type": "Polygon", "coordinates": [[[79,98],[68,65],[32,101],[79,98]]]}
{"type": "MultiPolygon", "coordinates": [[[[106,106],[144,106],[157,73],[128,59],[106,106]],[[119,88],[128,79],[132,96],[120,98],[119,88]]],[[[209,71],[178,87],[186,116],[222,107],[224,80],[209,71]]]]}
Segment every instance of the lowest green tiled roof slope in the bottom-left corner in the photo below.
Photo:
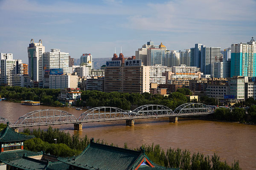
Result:
{"type": "Polygon", "coordinates": [[[47,162],[29,158],[23,156],[21,158],[7,159],[2,160],[7,165],[11,165],[24,170],[33,170],[33,169],[45,169],[47,166],[47,162]]]}

